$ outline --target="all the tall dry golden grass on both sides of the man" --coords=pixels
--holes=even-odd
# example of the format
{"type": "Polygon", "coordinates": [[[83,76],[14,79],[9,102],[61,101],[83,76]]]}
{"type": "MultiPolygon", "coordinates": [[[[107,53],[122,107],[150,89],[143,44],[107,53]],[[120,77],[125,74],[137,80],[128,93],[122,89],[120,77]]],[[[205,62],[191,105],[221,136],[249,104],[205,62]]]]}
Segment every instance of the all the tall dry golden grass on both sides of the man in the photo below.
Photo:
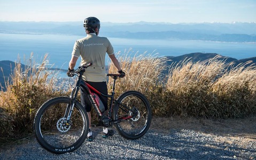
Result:
{"type": "MultiPolygon", "coordinates": [[[[224,61],[218,57],[207,62],[192,63],[189,59],[173,64],[168,75],[161,75],[166,66],[157,55],[127,53],[118,54],[125,78],[117,81],[117,95],[136,90],[149,100],[153,117],[165,117],[162,128],[179,124],[172,123],[171,117],[196,117],[208,119],[244,118],[256,115],[256,69],[241,64],[226,69],[224,61]],[[172,123],[172,124],[168,124],[172,123]]],[[[42,63],[36,65],[28,60],[22,70],[17,62],[11,76],[12,84],[6,82],[6,91],[0,95],[1,136],[32,132],[36,110],[46,100],[61,93],[55,90],[56,76],[52,76],[47,66],[47,55],[42,63]],[[6,127],[9,126],[9,127],[6,127]]],[[[117,73],[110,63],[108,73],[117,73]]],[[[112,81],[108,82],[111,91],[112,81]]],[[[95,116],[96,117],[96,116],[95,116]]],[[[185,123],[188,119],[185,119],[185,123]]],[[[200,120],[192,119],[191,123],[200,120]]],[[[202,123],[203,123],[202,122],[202,123]]],[[[217,121],[218,122],[218,121],[217,121]]],[[[217,123],[216,122],[216,123],[217,123]]],[[[255,121],[254,121],[255,122],[255,121]]],[[[189,123],[188,123],[189,124],[189,123]]],[[[220,123],[218,125],[221,125],[220,123]]],[[[189,127],[188,125],[184,127],[189,127]]],[[[242,127],[242,126],[241,126],[242,127]]],[[[8,137],[8,136],[5,136],[8,137]]]]}

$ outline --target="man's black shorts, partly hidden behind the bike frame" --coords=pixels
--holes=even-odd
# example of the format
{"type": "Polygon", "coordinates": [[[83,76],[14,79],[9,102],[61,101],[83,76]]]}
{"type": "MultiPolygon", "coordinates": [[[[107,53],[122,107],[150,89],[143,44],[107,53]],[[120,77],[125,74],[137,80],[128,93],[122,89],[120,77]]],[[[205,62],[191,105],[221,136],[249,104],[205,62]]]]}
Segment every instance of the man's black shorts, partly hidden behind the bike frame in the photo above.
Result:
{"type": "MultiPolygon", "coordinates": [[[[88,82],[92,87],[103,94],[107,94],[107,83],[106,82],[88,82]]],[[[81,94],[81,105],[86,108],[86,111],[91,111],[91,102],[88,98],[87,92],[84,91],[82,87],[80,87],[80,94],[81,94]]],[[[99,95],[100,100],[103,102],[105,110],[107,110],[107,97],[99,95]]]]}

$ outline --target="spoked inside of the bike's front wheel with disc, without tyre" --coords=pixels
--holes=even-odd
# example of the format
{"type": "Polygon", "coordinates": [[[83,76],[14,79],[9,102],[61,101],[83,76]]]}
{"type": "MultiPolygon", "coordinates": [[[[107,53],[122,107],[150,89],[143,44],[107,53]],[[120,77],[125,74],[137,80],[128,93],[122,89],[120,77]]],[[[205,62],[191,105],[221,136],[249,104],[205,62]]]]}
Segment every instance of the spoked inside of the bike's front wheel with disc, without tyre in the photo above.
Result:
{"type": "Polygon", "coordinates": [[[66,110],[65,103],[58,103],[49,107],[41,118],[41,132],[44,140],[51,146],[67,147],[73,145],[83,131],[82,116],[74,108],[72,126],[66,125],[66,118],[63,117],[66,110]],[[80,115],[80,116],[78,116],[80,115]],[[43,134],[48,132],[47,134],[43,134]]]}

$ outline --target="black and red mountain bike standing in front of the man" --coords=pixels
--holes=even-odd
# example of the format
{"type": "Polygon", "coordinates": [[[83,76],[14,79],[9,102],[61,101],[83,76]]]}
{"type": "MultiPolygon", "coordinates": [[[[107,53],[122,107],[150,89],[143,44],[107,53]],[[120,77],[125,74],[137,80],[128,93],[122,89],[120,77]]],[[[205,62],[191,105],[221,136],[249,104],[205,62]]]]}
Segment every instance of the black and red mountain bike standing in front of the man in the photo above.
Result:
{"type": "Polygon", "coordinates": [[[36,140],[44,149],[52,153],[64,154],[74,151],[87,138],[88,115],[77,99],[80,87],[88,92],[88,98],[96,110],[100,125],[115,126],[122,137],[131,140],[141,138],[149,130],[152,113],[146,97],[137,91],[127,91],[118,99],[114,99],[115,81],[120,78],[119,74],[107,74],[108,77],[113,78],[111,94],[106,95],[97,91],[82,79],[84,71],[89,66],[91,63],[80,66],[72,72],[78,78],[69,97],[52,98],[37,110],[34,119],[36,140]],[[107,114],[103,115],[98,95],[110,98],[107,114]]]}

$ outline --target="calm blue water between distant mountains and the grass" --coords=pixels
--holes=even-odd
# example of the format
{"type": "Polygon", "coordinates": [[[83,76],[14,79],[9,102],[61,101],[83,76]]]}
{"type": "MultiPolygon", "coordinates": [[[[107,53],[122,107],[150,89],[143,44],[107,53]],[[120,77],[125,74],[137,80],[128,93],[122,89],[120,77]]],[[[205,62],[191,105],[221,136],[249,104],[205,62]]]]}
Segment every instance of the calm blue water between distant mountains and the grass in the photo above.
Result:
{"type": "MultiPolygon", "coordinates": [[[[0,34],[0,61],[17,61],[18,56],[22,63],[29,60],[33,52],[33,59],[41,62],[48,53],[49,64],[54,68],[68,68],[73,45],[76,39],[83,36],[71,35],[27,35],[27,34],[0,34]]],[[[179,56],[193,52],[218,53],[236,59],[256,57],[255,43],[226,43],[184,40],[154,40],[154,39],[125,39],[108,37],[115,52],[120,55],[127,53],[156,54],[162,56],[179,56]]],[[[106,56],[106,63],[109,59],[106,56]]]]}

